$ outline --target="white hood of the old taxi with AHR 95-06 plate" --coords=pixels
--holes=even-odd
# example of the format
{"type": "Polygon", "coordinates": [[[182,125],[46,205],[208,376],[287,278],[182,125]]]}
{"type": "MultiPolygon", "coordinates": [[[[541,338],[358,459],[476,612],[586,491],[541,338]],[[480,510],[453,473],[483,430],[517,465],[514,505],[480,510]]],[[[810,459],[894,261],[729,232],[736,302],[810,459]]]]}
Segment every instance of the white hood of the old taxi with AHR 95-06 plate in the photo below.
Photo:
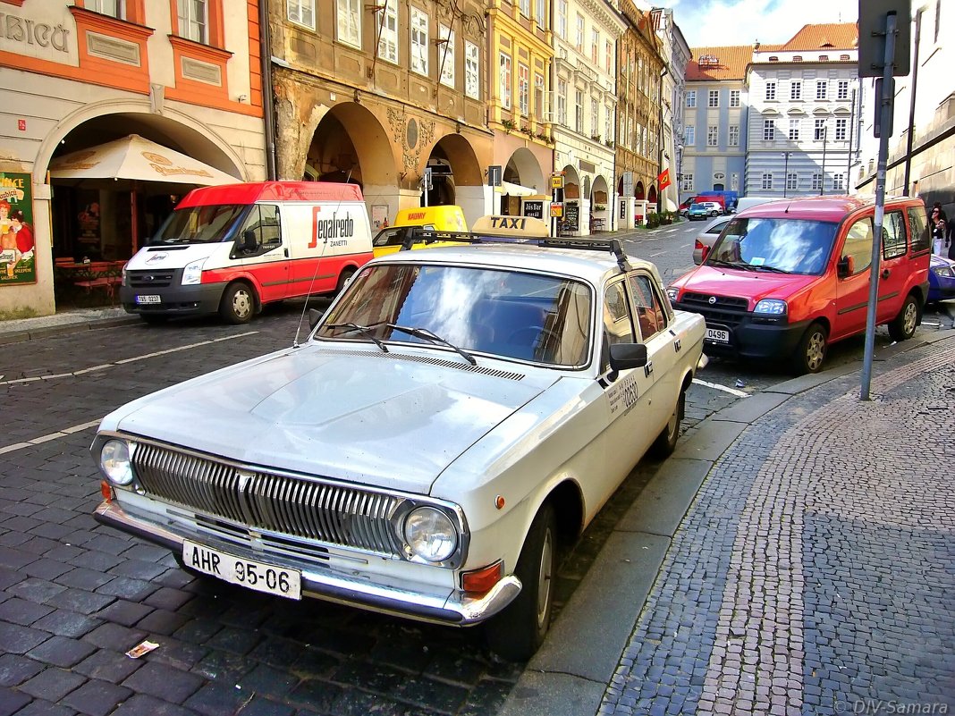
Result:
{"type": "Polygon", "coordinates": [[[480,359],[472,368],[445,351],[422,360],[424,352],[308,344],[140,398],[100,430],[427,494],[458,455],[553,377],[513,364],[482,368],[480,359]]]}

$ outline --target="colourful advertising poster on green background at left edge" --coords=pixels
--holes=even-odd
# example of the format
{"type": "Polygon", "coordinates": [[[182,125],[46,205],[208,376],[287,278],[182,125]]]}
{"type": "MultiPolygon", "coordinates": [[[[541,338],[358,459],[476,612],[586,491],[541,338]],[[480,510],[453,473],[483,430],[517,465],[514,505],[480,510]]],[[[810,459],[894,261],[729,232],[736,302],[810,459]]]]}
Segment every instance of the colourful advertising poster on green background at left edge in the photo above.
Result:
{"type": "Polygon", "coordinates": [[[0,172],[0,287],[36,283],[31,176],[0,172]]]}

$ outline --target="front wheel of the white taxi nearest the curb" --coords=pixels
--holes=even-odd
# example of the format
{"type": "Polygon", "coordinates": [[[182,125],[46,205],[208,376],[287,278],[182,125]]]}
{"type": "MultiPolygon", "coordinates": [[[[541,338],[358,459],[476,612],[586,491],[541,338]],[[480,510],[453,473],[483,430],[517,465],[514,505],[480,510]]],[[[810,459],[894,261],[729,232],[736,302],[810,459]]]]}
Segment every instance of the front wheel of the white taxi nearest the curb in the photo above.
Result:
{"type": "Polygon", "coordinates": [[[541,648],[554,606],[556,569],[557,517],[545,502],[531,523],[514,570],[520,594],[486,627],[488,645],[500,657],[525,662],[541,648]]]}

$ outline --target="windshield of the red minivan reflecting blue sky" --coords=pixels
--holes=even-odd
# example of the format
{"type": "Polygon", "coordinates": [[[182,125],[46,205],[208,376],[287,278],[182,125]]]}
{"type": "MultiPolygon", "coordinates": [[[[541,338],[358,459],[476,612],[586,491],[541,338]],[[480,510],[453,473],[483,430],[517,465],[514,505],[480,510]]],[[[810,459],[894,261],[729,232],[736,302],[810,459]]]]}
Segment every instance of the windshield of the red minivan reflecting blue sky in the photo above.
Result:
{"type": "Polygon", "coordinates": [[[705,263],[817,275],[832,252],[836,229],[829,221],[734,219],[705,263]]]}

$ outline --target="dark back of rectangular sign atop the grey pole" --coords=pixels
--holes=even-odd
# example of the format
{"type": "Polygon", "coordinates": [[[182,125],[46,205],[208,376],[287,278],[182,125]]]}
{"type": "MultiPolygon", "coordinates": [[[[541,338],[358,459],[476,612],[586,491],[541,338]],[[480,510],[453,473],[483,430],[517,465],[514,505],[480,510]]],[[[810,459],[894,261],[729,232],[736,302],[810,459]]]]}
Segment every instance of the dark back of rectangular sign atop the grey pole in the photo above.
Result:
{"type": "Polygon", "coordinates": [[[892,61],[892,76],[904,77],[911,72],[912,0],[859,0],[860,77],[881,77],[883,74],[885,16],[890,12],[896,15],[896,46],[895,57],[892,61]]]}

